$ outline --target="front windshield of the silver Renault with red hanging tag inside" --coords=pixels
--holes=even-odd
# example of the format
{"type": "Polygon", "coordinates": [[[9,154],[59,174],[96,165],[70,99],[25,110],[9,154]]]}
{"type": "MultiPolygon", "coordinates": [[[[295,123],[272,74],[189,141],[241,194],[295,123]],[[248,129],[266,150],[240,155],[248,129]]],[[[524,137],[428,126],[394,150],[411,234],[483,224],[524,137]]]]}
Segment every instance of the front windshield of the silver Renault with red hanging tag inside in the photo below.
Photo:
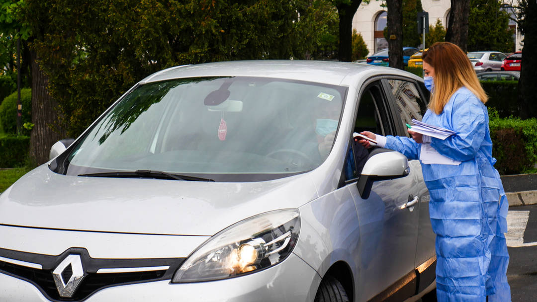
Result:
{"type": "Polygon", "coordinates": [[[140,85],[74,145],[66,173],[156,170],[253,181],[310,171],[328,156],[319,144],[336,130],[346,91],[251,77],[140,85]]]}

